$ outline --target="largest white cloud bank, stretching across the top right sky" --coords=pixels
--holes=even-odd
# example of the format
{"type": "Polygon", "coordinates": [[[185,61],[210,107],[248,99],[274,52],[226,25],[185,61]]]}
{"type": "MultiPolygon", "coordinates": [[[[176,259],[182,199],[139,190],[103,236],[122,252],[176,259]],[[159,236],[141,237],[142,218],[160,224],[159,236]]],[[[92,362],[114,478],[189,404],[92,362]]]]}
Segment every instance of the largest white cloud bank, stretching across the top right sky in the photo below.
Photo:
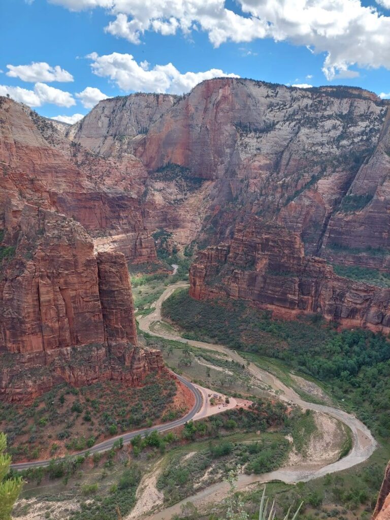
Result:
{"type": "MultiPolygon", "coordinates": [[[[326,53],[323,73],[328,80],[356,77],[351,66],[390,69],[390,17],[361,0],[50,0],[71,10],[102,7],[116,18],[106,31],[140,43],[145,31],[208,33],[214,46],[227,41],[273,38],[326,53]]],[[[378,0],[383,7],[390,0],[378,0]]]]}

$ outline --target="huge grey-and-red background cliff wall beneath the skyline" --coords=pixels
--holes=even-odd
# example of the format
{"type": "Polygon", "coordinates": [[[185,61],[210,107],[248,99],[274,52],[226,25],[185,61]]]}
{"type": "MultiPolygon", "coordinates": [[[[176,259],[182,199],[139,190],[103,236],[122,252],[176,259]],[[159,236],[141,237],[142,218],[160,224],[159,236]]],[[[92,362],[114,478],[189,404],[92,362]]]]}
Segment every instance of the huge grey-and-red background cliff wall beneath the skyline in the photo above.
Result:
{"type": "Polygon", "coordinates": [[[257,214],[300,233],[309,255],[387,270],[387,107],[351,87],[223,78],[181,98],[102,101],[68,135],[140,158],[145,223],[180,244],[215,245],[257,214]],[[203,183],[188,191],[162,170],[170,164],[203,183]]]}

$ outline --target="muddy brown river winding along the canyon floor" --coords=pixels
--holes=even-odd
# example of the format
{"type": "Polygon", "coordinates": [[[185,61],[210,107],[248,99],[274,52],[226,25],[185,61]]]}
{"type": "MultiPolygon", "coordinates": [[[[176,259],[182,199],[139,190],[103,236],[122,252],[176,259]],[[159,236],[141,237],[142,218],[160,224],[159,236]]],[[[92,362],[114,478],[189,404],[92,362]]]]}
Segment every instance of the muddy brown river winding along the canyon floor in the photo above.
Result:
{"type": "MultiPolygon", "coordinates": [[[[185,340],[179,336],[164,333],[157,334],[150,331],[150,325],[154,321],[161,320],[161,306],[164,300],[171,296],[171,294],[179,288],[188,287],[187,283],[175,283],[167,287],[160,298],[155,303],[154,311],[147,315],[139,318],[139,328],[154,336],[165,337],[168,340],[175,340],[181,343],[188,343],[189,345],[204,348],[206,350],[215,350],[217,352],[226,354],[230,359],[238,361],[239,363],[246,364],[246,360],[242,358],[235,350],[230,350],[223,345],[217,345],[212,343],[204,343],[201,341],[185,340]]],[[[292,389],[284,385],[274,375],[258,368],[254,363],[250,363],[248,366],[249,372],[262,383],[269,385],[274,391],[282,391],[280,399],[285,402],[292,402],[304,410],[314,410],[316,412],[322,412],[329,415],[330,417],[337,419],[347,425],[352,431],[353,447],[343,459],[333,462],[331,464],[324,465],[323,460],[312,461],[310,467],[303,464],[298,467],[283,467],[279,470],[265,473],[262,475],[245,475],[242,474],[238,478],[238,488],[243,489],[246,486],[256,482],[269,482],[269,480],[281,480],[282,482],[291,484],[299,481],[307,482],[315,478],[322,477],[328,473],[335,473],[338,471],[346,470],[349,467],[353,467],[356,464],[367,460],[376,448],[376,441],[371,435],[370,430],[359,421],[355,415],[347,413],[343,410],[333,408],[331,406],[317,405],[311,402],[306,402],[292,389]],[[317,464],[316,464],[317,462],[317,464]]],[[[180,513],[180,507],[182,504],[190,501],[194,504],[205,505],[207,503],[218,502],[223,500],[228,494],[229,486],[223,482],[213,484],[203,491],[196,493],[191,497],[187,497],[185,500],[178,502],[170,508],[164,509],[159,513],[154,513],[145,518],[145,520],[168,520],[174,514],[180,513]]]]}

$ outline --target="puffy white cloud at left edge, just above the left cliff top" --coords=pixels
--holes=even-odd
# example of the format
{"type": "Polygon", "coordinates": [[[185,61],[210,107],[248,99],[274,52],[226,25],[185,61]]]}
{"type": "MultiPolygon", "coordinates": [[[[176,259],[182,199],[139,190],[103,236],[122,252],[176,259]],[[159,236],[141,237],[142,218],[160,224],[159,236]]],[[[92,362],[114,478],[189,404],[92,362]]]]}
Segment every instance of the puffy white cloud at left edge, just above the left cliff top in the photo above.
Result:
{"type": "Polygon", "coordinates": [[[7,94],[15,101],[25,103],[29,107],[40,107],[44,103],[53,103],[53,105],[58,107],[72,107],[76,104],[69,92],[50,87],[45,83],[36,83],[34,90],[0,85],[0,96],[6,96],[7,94]]]}

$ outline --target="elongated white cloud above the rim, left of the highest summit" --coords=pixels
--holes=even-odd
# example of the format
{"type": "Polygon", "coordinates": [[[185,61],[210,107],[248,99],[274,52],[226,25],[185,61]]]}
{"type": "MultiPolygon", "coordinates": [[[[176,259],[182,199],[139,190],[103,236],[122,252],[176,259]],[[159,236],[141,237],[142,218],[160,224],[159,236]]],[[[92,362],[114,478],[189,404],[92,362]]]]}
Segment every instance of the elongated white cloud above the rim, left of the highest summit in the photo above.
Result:
{"type": "Polygon", "coordinates": [[[213,77],[239,77],[237,74],[225,74],[220,69],[181,74],[172,63],[155,65],[149,70],[148,62],[138,64],[131,54],[112,53],[98,56],[96,53],[92,53],[87,57],[93,60],[91,67],[94,74],[109,77],[127,92],[136,90],[183,94],[201,81],[210,80],[213,77]]]}

